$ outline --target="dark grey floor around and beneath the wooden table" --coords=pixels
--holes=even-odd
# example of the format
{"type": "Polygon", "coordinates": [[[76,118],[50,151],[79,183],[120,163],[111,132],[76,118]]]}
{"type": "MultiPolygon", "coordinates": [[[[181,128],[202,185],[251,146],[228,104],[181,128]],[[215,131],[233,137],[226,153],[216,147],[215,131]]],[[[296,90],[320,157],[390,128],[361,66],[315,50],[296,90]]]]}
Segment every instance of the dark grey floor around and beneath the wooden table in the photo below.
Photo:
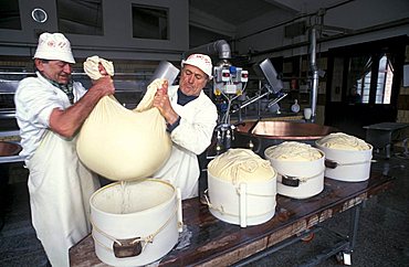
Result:
{"type": "MultiPolygon", "coordinates": [[[[373,170],[396,178],[391,190],[369,201],[361,210],[353,266],[409,266],[409,158],[392,156],[386,160],[374,153],[378,162],[373,170]]],[[[0,266],[44,266],[46,257],[31,226],[27,171],[21,164],[10,167],[12,183],[7,194],[4,226],[0,232],[0,266]]],[[[324,226],[346,233],[349,213],[343,213],[324,226]]],[[[300,242],[250,266],[298,266],[332,244],[332,236],[318,232],[306,243],[300,242]]],[[[339,266],[335,257],[318,266],[339,266]]]]}

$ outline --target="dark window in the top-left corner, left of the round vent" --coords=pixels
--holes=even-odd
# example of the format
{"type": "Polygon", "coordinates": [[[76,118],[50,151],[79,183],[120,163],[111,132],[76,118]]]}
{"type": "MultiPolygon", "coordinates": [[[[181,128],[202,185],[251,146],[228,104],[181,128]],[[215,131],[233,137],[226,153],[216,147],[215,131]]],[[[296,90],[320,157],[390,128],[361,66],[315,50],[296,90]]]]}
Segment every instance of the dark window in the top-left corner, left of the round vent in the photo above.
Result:
{"type": "Polygon", "coordinates": [[[0,29],[21,30],[19,1],[0,1],[0,29]]]}

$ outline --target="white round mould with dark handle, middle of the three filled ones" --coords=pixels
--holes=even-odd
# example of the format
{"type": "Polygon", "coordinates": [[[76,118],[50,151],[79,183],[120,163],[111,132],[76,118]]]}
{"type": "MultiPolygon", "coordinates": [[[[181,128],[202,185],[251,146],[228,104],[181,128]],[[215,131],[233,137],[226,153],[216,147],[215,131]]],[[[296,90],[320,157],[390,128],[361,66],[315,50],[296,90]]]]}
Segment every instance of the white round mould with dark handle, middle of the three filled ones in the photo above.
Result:
{"type": "Polygon", "coordinates": [[[264,157],[270,160],[277,171],[277,194],[293,199],[307,199],[319,194],[324,190],[324,152],[323,157],[313,161],[280,160],[269,157],[269,149],[264,157]],[[283,178],[284,177],[284,178],[283,178]]]}

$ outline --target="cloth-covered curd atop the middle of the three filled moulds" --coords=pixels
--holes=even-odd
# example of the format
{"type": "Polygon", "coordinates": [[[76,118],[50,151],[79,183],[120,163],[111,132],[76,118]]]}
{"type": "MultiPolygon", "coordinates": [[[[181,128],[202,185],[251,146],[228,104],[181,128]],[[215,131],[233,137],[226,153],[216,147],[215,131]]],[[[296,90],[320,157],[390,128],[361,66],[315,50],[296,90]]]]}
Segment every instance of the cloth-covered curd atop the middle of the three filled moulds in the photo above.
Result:
{"type": "Polygon", "coordinates": [[[316,148],[303,142],[289,141],[268,148],[265,156],[270,159],[287,161],[313,161],[323,157],[316,148]]]}

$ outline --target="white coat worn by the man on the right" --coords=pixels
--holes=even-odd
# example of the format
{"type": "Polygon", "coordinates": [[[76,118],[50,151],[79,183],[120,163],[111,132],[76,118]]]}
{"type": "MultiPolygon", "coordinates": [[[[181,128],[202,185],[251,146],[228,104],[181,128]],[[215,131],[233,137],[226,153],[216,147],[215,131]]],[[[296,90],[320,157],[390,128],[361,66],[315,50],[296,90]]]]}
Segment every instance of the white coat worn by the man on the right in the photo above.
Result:
{"type": "Polygon", "coordinates": [[[180,122],[170,134],[170,158],[154,177],[168,180],[179,188],[185,200],[198,195],[200,169],[197,156],[211,142],[218,113],[203,92],[185,106],[178,105],[178,88],[179,86],[169,86],[168,95],[172,108],[180,116],[180,122]]]}

